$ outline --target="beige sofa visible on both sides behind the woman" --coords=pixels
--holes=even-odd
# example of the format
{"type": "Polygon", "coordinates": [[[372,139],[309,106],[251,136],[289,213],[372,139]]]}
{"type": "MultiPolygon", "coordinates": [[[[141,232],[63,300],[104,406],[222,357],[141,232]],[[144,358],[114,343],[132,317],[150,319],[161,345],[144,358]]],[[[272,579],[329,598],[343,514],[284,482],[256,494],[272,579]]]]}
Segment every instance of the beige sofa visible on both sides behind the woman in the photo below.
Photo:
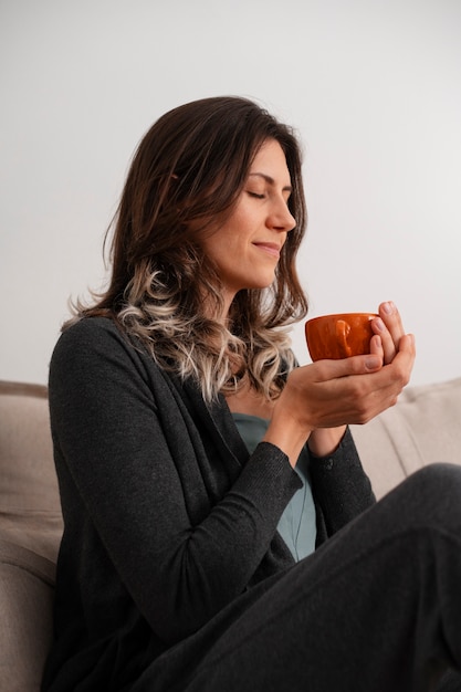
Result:
{"type": "MultiPolygon", "coordinates": [[[[461,378],[407,388],[353,433],[378,497],[427,463],[461,463],[461,378]]],[[[0,381],[0,692],[32,692],[62,532],[45,387],[0,381]]]]}

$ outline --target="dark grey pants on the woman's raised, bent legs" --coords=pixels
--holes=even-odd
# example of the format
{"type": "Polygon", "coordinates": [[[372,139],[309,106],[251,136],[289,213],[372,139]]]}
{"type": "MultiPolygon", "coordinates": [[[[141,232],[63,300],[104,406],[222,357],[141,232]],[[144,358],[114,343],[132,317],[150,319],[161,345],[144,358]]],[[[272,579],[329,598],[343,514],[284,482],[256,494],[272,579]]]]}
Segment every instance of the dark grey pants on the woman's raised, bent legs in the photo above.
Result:
{"type": "MultiPolygon", "coordinates": [[[[461,690],[461,466],[415,473],[259,590],[171,690],[461,690]]],[[[147,678],[136,690],[158,689],[147,678]]]]}

